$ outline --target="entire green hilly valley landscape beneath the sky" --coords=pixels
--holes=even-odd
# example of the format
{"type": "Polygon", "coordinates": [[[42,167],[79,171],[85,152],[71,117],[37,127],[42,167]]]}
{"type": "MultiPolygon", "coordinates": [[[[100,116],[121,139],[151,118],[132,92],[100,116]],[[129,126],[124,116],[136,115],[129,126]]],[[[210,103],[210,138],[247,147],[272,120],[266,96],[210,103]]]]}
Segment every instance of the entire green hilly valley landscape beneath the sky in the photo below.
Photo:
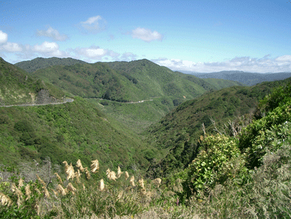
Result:
{"type": "MultiPolygon", "coordinates": [[[[68,164],[82,171],[75,165],[79,159],[86,168],[97,160],[98,174],[92,173],[90,179],[84,172],[78,177],[100,197],[104,195],[96,188],[105,179],[110,195],[100,199],[102,205],[112,202],[115,208],[125,208],[125,199],[119,203],[124,191],[133,197],[131,207],[136,206],[136,213],[167,203],[177,214],[182,208],[193,208],[200,209],[205,218],[207,206],[212,206],[210,214],[214,216],[215,209],[227,206],[230,194],[240,204],[251,201],[236,191],[251,194],[258,185],[265,185],[258,180],[265,177],[264,169],[284,166],[290,170],[291,78],[253,85],[197,78],[146,59],[86,63],[72,58],[36,58],[12,65],[1,58],[0,83],[1,174],[11,169],[17,181],[18,176],[27,175],[27,166],[36,174],[35,163],[65,178],[68,164]],[[284,156],[282,151],[287,151],[284,156]],[[271,164],[268,159],[275,156],[272,154],[276,159],[271,164]],[[118,178],[111,181],[106,172],[117,167],[136,176],[136,183],[145,179],[146,186],[123,184],[118,178]],[[160,188],[153,186],[155,178],[162,179],[160,188]],[[216,192],[221,202],[213,198],[216,192]],[[147,207],[141,207],[142,203],[147,207]]],[[[57,178],[48,177],[48,171],[42,174],[54,189],[57,178]]],[[[289,175],[284,182],[277,180],[280,174],[273,171],[271,180],[290,185],[289,175]]],[[[67,178],[62,185],[69,182],[79,185],[78,195],[67,191],[57,200],[77,200],[70,203],[74,210],[67,213],[77,216],[79,213],[72,212],[79,209],[82,197],[93,199],[73,179],[67,178]]],[[[0,182],[2,191],[8,188],[0,182]]],[[[282,198],[276,191],[272,194],[277,201],[282,198]]],[[[258,192],[254,200],[262,197],[265,195],[258,192]]],[[[95,209],[92,206],[88,209],[95,209]]],[[[262,206],[256,208],[260,211],[262,206]]],[[[280,205],[274,208],[281,209],[280,205]]],[[[8,207],[1,207],[0,213],[5,209],[8,207]]],[[[64,210],[62,207],[63,215],[64,210]]],[[[134,214],[134,210],[130,212],[134,214]]],[[[244,215],[235,208],[230,212],[238,218],[244,215]]]]}

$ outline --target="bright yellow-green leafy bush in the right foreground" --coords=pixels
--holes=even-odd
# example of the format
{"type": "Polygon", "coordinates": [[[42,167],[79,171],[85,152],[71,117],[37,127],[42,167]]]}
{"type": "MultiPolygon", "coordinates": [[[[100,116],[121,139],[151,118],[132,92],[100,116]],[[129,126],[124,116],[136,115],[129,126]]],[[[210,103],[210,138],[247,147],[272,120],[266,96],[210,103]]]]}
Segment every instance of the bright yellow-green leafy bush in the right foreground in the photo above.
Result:
{"type": "Polygon", "coordinates": [[[229,178],[238,178],[236,183],[246,181],[247,172],[237,143],[237,139],[220,134],[204,138],[202,151],[185,170],[187,178],[183,187],[188,197],[224,184],[229,178]]]}

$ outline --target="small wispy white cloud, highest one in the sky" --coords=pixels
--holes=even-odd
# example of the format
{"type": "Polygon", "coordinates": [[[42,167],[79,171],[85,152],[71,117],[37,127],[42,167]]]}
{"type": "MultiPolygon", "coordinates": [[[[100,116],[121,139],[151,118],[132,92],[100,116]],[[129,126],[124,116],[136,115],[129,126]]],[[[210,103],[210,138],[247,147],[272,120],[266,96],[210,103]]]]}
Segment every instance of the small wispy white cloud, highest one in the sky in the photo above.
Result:
{"type": "Polygon", "coordinates": [[[105,30],[106,21],[98,15],[88,18],[87,21],[81,21],[78,26],[86,33],[99,33],[105,30]]]}

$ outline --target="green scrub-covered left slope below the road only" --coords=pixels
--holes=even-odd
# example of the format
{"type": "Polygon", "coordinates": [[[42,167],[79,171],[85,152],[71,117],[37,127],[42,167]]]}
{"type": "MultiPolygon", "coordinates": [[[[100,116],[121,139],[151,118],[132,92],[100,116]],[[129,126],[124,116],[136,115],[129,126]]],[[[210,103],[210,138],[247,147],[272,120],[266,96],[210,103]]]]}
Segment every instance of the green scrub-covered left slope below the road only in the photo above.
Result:
{"type": "Polygon", "coordinates": [[[146,144],[81,97],[62,105],[1,107],[0,111],[0,164],[50,156],[54,164],[82,159],[89,165],[99,159],[106,166],[148,166],[143,157],[146,144]]]}

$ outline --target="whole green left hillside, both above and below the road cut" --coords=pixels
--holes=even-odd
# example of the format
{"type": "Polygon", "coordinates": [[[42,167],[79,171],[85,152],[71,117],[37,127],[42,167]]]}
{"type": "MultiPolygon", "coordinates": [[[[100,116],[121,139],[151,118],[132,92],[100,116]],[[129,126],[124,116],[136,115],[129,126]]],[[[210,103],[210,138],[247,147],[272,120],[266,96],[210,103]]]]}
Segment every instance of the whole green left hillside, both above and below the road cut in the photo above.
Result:
{"type": "Polygon", "coordinates": [[[49,156],[53,164],[82,159],[89,165],[91,159],[99,159],[106,166],[148,167],[143,154],[151,148],[96,105],[77,96],[73,102],[62,102],[65,92],[3,59],[0,73],[0,164],[40,162],[49,156]],[[3,107],[23,103],[31,105],[3,107]]]}

